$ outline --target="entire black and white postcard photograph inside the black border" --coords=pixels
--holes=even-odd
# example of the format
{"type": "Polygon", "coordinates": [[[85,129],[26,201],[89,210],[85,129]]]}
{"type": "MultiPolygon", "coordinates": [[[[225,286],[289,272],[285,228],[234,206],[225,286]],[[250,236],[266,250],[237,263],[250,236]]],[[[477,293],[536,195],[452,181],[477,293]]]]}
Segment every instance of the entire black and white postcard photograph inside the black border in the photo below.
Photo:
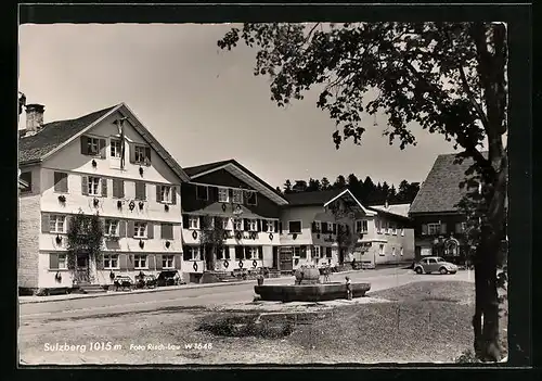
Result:
{"type": "Polygon", "coordinates": [[[21,24],[18,364],[506,363],[507,36],[21,24]]]}

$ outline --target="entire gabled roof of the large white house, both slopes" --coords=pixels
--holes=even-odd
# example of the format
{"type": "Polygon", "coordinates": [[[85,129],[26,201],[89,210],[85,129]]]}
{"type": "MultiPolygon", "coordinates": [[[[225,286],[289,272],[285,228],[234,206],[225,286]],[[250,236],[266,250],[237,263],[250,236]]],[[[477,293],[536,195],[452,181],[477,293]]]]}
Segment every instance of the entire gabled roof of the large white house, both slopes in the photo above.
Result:
{"type": "Polygon", "coordinates": [[[75,119],[44,124],[43,128],[36,135],[23,137],[18,140],[20,165],[43,161],[117,111],[128,117],[128,122],[136,131],[141,135],[145,142],[154,149],[181,180],[190,180],[181,166],[171,157],[166,149],[162,147],[156,138],[149,132],[149,129],[143,126],[125,103],[103,109],[75,119]]]}

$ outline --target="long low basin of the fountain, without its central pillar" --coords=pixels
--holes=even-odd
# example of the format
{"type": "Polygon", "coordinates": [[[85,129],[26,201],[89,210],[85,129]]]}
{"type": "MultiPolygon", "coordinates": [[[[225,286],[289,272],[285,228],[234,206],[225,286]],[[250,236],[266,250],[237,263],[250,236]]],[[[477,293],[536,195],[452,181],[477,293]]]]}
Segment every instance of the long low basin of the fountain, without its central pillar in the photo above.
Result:
{"type": "MultiPolygon", "coordinates": [[[[371,283],[352,283],[352,297],[361,297],[371,290],[371,283]]],[[[254,291],[262,301],[273,302],[322,302],[346,299],[346,284],[340,282],[322,284],[273,284],[255,285],[254,291]]]]}

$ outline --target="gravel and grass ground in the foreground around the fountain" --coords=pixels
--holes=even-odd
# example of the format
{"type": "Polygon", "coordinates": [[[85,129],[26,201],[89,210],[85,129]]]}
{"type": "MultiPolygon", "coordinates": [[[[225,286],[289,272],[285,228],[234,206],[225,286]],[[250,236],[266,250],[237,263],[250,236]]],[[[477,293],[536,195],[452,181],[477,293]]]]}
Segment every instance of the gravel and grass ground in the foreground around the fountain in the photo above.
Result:
{"type": "MultiPolygon", "coordinates": [[[[20,359],[31,365],[452,361],[472,347],[473,308],[474,284],[439,281],[374,292],[352,302],[311,304],[311,308],[307,304],[248,303],[50,319],[33,323],[31,334],[26,326],[20,328],[20,359]],[[326,313],[311,325],[297,326],[283,339],[223,338],[197,330],[204,319],[220,313],[314,309],[326,313]],[[91,351],[90,343],[95,342],[121,348],[91,351]],[[85,344],[86,352],[48,352],[46,343],[85,344]],[[186,348],[191,343],[202,346],[186,348]],[[165,347],[150,350],[149,344],[165,347]],[[137,345],[144,350],[136,350],[137,345]]],[[[506,328],[505,318],[501,327],[506,328]]]]}

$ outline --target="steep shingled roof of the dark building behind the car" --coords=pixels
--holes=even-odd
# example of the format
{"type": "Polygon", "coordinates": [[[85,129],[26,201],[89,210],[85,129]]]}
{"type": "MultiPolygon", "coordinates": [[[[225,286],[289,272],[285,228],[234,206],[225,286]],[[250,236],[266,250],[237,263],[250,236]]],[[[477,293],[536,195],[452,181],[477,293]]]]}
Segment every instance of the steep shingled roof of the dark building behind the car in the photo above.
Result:
{"type": "MultiPolygon", "coordinates": [[[[482,154],[487,156],[486,152],[482,154]]],[[[410,214],[459,212],[455,205],[467,191],[460,188],[460,182],[465,179],[465,172],[474,161],[468,157],[461,164],[454,164],[455,156],[451,153],[437,157],[412,202],[410,214]]]]}

